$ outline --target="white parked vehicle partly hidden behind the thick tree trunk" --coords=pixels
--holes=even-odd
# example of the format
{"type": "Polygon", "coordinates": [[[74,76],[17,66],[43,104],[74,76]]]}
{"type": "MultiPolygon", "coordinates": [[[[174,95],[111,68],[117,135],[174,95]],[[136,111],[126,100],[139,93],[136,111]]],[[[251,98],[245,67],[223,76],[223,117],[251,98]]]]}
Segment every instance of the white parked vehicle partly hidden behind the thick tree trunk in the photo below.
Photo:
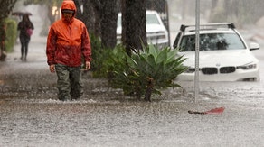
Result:
{"type": "MultiPolygon", "coordinates": [[[[122,14],[118,14],[117,40],[121,42],[122,36],[122,14]]],[[[146,11],[146,38],[148,43],[165,47],[169,45],[168,32],[162,22],[160,15],[156,11],[146,11]]]]}

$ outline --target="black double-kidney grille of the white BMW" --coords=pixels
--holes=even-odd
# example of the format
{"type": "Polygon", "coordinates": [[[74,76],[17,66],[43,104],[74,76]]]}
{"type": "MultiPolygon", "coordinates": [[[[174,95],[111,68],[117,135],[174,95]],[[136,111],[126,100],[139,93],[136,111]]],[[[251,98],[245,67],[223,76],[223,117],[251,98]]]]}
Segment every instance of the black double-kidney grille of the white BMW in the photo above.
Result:
{"type": "MultiPolygon", "coordinates": [[[[201,71],[204,75],[213,75],[218,73],[217,68],[202,68],[201,71]]],[[[236,71],[235,67],[222,67],[219,69],[219,73],[222,74],[232,73],[235,71],[236,71]]]]}

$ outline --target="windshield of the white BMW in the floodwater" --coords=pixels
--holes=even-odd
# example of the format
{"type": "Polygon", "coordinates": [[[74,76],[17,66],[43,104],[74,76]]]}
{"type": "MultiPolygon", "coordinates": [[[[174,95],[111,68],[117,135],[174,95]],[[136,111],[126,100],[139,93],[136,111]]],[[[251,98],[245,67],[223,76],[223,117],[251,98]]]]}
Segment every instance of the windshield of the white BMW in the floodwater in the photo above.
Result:
{"type": "MultiPolygon", "coordinates": [[[[180,49],[181,51],[195,51],[195,34],[184,36],[180,49]]],[[[246,46],[236,33],[200,34],[200,51],[241,49],[246,49],[246,46]]]]}

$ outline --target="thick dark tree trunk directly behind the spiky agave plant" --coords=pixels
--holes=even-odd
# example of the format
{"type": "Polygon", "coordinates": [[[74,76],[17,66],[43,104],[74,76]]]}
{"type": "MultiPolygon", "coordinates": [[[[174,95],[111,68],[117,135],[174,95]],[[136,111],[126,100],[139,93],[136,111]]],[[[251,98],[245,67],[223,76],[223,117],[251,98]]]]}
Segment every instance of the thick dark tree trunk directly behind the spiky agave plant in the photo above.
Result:
{"type": "Polygon", "coordinates": [[[122,0],[122,42],[127,53],[146,46],[145,0],[122,0]]]}

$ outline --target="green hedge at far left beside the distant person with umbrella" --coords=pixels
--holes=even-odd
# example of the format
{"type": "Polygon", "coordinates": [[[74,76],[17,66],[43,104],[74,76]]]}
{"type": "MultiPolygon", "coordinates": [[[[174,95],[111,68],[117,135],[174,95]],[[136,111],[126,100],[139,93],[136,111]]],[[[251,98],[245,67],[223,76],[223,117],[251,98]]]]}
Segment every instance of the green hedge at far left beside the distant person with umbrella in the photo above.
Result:
{"type": "Polygon", "coordinates": [[[17,38],[17,23],[13,19],[5,19],[6,39],[5,51],[12,52],[14,50],[14,43],[17,38]]]}

